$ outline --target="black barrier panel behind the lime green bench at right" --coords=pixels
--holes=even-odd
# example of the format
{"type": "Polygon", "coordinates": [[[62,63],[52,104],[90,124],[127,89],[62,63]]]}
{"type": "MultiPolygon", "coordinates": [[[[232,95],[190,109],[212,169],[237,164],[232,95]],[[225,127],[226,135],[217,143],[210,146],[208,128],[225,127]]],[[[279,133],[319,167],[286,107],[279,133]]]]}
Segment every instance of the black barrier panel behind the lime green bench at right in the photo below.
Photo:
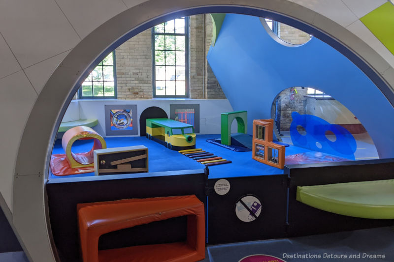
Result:
{"type": "Polygon", "coordinates": [[[288,166],[290,173],[288,236],[391,226],[394,220],[364,219],[323,211],[296,200],[297,186],[394,178],[394,159],[288,166]]]}

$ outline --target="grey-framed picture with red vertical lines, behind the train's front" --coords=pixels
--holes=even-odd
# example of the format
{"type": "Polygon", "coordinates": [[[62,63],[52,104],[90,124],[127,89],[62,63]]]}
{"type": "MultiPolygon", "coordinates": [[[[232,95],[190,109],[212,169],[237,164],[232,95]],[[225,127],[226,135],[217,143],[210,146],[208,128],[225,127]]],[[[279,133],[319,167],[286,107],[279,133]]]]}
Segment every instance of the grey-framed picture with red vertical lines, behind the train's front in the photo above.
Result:
{"type": "Polygon", "coordinates": [[[199,104],[171,104],[169,105],[171,119],[191,124],[194,132],[200,132],[200,105],[199,104]]]}

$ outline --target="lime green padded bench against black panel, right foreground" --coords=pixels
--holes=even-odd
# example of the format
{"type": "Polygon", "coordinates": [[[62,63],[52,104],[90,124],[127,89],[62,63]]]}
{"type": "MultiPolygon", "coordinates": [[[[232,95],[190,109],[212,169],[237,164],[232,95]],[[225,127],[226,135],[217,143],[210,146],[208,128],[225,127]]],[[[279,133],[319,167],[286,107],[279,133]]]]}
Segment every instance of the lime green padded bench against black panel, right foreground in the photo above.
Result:
{"type": "Polygon", "coordinates": [[[394,179],[298,186],[296,200],[339,215],[394,219],[394,179]]]}

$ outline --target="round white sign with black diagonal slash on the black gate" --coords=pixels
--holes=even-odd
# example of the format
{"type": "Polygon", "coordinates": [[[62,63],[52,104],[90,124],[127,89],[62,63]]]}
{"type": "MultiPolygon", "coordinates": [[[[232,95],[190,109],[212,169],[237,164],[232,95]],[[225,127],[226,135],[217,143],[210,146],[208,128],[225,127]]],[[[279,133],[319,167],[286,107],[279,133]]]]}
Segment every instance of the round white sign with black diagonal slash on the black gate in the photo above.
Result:
{"type": "Polygon", "coordinates": [[[244,196],[235,204],[235,214],[243,222],[256,220],[262,211],[262,203],[255,196],[244,196]]]}

